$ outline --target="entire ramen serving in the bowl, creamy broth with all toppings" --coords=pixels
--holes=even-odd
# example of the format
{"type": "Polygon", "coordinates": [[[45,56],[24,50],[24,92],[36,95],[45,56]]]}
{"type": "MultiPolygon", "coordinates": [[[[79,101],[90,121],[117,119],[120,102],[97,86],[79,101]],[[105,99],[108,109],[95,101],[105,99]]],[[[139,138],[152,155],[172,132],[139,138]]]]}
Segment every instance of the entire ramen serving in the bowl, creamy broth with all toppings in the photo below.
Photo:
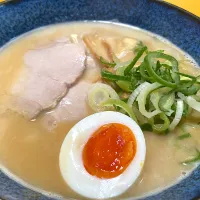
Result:
{"type": "Polygon", "coordinates": [[[198,75],[185,52],[131,26],[27,33],[0,53],[1,169],[55,197],[159,192],[200,160],[198,75]]]}

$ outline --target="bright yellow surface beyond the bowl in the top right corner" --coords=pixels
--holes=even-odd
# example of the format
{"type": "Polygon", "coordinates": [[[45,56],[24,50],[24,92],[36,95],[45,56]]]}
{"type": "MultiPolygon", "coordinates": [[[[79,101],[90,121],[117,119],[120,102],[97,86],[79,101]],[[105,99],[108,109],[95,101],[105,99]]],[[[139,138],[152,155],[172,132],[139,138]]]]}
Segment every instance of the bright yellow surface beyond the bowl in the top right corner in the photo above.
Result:
{"type": "Polygon", "coordinates": [[[164,0],[200,17],[200,0],[164,0]]]}

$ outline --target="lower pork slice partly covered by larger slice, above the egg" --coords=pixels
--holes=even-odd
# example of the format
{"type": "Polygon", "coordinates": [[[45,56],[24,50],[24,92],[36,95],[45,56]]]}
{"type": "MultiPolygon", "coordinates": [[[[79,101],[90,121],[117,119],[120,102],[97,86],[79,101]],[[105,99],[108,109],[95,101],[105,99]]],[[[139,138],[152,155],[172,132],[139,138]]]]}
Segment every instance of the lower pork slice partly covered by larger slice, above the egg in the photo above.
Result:
{"type": "Polygon", "coordinates": [[[74,122],[86,117],[88,115],[86,97],[91,85],[92,83],[80,81],[71,87],[57,107],[44,114],[42,117],[44,127],[53,130],[59,122],[74,122]]]}

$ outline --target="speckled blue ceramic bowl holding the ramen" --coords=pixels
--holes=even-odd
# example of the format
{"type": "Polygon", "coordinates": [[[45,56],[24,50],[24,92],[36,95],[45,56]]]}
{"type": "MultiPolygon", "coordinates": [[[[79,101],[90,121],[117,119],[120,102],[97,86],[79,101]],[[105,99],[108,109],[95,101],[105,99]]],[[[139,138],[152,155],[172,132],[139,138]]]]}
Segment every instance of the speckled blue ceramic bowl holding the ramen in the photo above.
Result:
{"type": "MultiPolygon", "coordinates": [[[[23,0],[0,6],[0,46],[15,37],[47,25],[74,21],[135,26],[162,36],[191,55],[200,66],[200,19],[183,10],[147,0],[23,0]]],[[[3,173],[4,172],[4,173],[3,173]]],[[[0,172],[0,198],[55,199],[28,189],[0,172]]],[[[200,166],[184,179],[139,197],[145,200],[193,199],[200,196],[200,166]]],[[[68,198],[69,199],[69,198],[68,198]]],[[[135,199],[130,197],[129,199],[135,199]]]]}

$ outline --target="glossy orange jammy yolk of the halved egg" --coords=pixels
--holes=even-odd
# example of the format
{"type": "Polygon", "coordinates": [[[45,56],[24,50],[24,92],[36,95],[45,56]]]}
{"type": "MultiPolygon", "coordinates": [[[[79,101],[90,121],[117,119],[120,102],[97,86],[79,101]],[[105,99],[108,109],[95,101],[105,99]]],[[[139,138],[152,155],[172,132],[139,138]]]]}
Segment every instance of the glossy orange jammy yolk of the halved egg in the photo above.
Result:
{"type": "Polygon", "coordinates": [[[114,178],[129,166],[136,148],[135,136],[127,126],[118,123],[101,126],[83,149],[84,167],[98,178],[114,178]]]}

